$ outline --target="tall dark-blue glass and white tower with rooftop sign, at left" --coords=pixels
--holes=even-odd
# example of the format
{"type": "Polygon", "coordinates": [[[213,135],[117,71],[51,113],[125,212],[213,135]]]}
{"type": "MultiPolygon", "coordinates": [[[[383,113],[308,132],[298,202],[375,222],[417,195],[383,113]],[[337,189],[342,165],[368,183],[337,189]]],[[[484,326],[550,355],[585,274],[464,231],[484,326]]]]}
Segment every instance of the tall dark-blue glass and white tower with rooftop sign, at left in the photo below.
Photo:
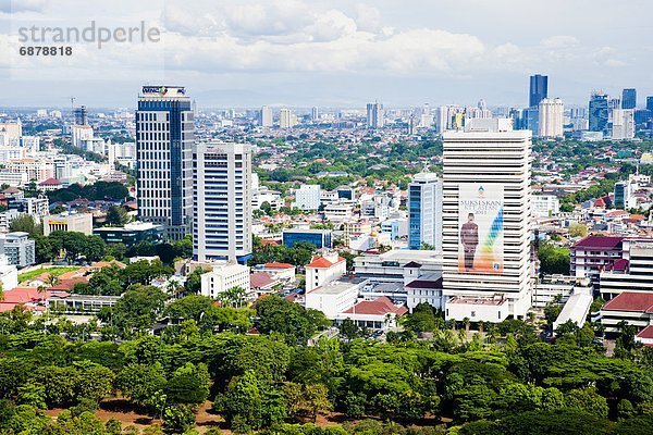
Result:
{"type": "Polygon", "coordinates": [[[167,238],[190,232],[193,124],[190,98],[178,86],[144,86],[136,111],[138,219],[163,225],[167,238]]]}

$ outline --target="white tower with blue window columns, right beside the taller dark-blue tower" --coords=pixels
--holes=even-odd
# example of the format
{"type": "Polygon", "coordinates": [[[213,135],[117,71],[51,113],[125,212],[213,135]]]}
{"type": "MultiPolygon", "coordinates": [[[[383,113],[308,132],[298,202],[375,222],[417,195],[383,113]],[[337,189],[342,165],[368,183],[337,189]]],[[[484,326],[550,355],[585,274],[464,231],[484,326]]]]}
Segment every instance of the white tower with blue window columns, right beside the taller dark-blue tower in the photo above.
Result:
{"type": "Polygon", "coordinates": [[[244,262],[251,253],[251,148],[198,144],[193,171],[193,257],[244,262]]]}

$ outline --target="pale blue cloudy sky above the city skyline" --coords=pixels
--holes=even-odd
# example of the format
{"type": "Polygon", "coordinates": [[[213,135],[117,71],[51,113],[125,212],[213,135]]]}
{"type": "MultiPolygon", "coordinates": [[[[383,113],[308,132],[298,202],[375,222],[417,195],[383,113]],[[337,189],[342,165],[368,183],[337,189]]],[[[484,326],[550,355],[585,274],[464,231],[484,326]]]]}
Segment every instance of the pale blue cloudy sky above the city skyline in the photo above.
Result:
{"type": "Polygon", "coordinates": [[[144,84],[200,108],[523,107],[528,77],[584,105],[592,90],[653,95],[650,0],[0,0],[0,107],[135,105],[144,84]],[[20,28],[157,28],[158,41],[47,44],[20,28]],[[42,45],[42,44],[41,44],[42,45]]]}

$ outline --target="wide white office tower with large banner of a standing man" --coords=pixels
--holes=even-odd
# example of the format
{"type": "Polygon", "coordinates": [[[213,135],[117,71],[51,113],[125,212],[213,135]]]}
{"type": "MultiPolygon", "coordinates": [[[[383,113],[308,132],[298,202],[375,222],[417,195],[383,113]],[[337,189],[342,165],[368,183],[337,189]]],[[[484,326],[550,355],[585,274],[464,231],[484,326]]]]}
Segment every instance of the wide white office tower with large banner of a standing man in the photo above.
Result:
{"type": "Polygon", "coordinates": [[[445,316],[501,322],[531,302],[531,133],[480,121],[443,135],[445,316]]]}

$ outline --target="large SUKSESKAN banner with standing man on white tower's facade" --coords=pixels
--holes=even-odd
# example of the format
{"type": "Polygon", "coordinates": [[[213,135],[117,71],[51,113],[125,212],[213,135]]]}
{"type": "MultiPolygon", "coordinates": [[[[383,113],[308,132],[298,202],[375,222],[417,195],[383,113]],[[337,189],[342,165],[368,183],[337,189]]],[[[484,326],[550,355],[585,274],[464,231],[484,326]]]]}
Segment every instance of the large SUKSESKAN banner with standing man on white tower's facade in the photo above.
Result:
{"type": "Polygon", "coordinates": [[[458,237],[459,272],[503,272],[503,186],[481,183],[458,185],[458,237]]]}

